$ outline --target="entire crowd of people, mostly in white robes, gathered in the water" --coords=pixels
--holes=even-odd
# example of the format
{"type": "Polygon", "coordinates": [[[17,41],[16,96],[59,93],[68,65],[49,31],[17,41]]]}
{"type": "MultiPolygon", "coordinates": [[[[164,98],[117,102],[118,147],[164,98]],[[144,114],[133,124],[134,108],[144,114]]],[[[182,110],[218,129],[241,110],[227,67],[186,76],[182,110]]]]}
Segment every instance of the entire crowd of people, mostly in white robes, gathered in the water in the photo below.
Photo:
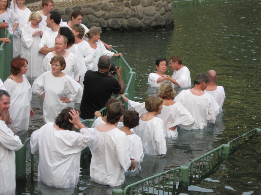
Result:
{"type": "MultiPolygon", "coordinates": [[[[17,3],[12,1],[11,5],[18,14],[27,10],[24,1],[17,3]]],[[[0,194],[15,194],[14,151],[22,146],[17,135],[28,130],[29,118],[34,116],[32,92],[43,97],[46,124],[32,133],[31,152],[39,151],[38,181],[52,187],[71,188],[78,184],[80,152],[87,146],[92,153],[92,181],[118,186],[124,183],[125,172],[141,170],[144,154],[166,154],[165,137],[177,138],[177,126],[191,130],[205,128],[208,121],[215,123],[225,99],[224,88],[215,85],[217,73],[209,70],[198,74],[191,88],[189,69],[182,65],[180,56],[174,55],[169,59],[173,75],[165,74],[168,61],[164,58],[156,60],[157,72],[149,74],[149,84],[158,89],[157,96],[149,96],[143,103],[129,100],[123,94],[120,79],[115,91],[127,102],[128,110],[124,114],[121,100],[110,98],[105,105],[106,115],[95,111],[97,119],[92,128],[86,128],[80,121],[80,111],[73,109],[88,90],[85,73],[88,70],[86,75],[95,72],[108,76],[108,58],[122,54],[105,48],[111,45],[100,40],[99,27],[88,30],[81,24],[80,10],[72,12],[72,21],[62,23],[60,14],[51,11],[53,3],[43,0],[43,9],[29,14],[29,22],[20,27],[25,12],[15,22],[5,20],[11,31],[19,27],[21,36],[16,46],[21,48],[14,48],[14,53],[18,52],[14,55],[19,57],[10,63],[11,75],[4,83],[0,80],[0,176],[5,178],[0,181],[0,194]],[[37,77],[32,88],[27,77],[37,77]],[[175,97],[177,87],[184,89],[175,97]]],[[[5,14],[15,14],[7,6],[7,0],[0,0],[0,14],[3,9],[5,14]]]]}

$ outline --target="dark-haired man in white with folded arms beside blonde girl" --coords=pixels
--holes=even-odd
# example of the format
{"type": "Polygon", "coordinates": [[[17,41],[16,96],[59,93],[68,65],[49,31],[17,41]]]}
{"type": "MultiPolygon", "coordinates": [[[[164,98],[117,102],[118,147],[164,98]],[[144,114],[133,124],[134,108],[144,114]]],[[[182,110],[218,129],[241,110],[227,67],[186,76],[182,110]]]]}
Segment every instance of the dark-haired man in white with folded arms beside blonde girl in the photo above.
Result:
{"type": "MultiPolygon", "coordinates": [[[[47,15],[46,23],[49,30],[45,30],[41,42],[39,43],[38,52],[46,55],[54,51],[55,37],[58,35],[60,29],[61,15],[57,11],[51,11],[47,15]]],[[[43,56],[45,57],[45,56],[43,56]]]]}

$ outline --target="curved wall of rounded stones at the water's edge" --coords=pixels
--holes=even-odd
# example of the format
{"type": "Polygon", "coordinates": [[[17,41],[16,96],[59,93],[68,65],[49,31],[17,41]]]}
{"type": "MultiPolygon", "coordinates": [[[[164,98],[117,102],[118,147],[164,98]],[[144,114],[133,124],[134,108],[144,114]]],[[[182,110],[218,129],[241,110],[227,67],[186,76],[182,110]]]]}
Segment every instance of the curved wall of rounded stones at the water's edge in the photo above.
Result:
{"type": "Polygon", "coordinates": [[[73,10],[84,14],[82,23],[88,28],[106,30],[159,28],[174,23],[171,0],[107,0],[53,9],[63,21],[70,21],[73,10]]]}

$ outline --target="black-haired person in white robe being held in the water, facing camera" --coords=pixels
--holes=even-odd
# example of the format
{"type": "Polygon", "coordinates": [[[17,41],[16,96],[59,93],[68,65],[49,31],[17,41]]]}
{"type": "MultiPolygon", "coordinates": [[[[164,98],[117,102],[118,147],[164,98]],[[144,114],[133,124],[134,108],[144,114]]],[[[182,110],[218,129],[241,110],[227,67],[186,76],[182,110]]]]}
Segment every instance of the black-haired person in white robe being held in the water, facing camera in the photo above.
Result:
{"type": "Polygon", "coordinates": [[[157,72],[150,73],[148,82],[150,87],[159,87],[162,81],[169,79],[169,75],[165,75],[165,72],[168,67],[168,62],[165,58],[159,58],[155,62],[157,72]]]}

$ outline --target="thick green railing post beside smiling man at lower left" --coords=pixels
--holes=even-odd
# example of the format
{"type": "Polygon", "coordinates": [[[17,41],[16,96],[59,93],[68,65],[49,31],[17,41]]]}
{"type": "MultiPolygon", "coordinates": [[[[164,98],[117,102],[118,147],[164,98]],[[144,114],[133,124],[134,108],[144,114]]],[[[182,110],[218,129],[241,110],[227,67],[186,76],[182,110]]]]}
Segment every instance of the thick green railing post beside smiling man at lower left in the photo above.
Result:
{"type": "Polygon", "coordinates": [[[25,179],[25,157],[26,157],[26,144],[31,138],[27,138],[22,144],[22,147],[15,151],[15,176],[16,179],[25,179]]]}

